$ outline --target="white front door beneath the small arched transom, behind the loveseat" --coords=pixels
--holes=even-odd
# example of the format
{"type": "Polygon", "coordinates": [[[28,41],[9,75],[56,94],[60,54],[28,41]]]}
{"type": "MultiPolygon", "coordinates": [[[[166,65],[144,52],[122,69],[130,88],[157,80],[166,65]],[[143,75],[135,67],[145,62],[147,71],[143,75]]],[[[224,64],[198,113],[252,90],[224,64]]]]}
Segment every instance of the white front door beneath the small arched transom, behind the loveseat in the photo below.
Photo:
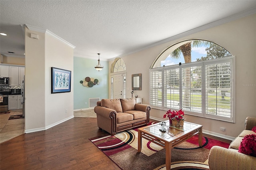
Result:
{"type": "Polygon", "coordinates": [[[113,99],[122,99],[123,92],[122,92],[122,85],[123,85],[123,75],[122,74],[116,74],[113,75],[113,99]]]}

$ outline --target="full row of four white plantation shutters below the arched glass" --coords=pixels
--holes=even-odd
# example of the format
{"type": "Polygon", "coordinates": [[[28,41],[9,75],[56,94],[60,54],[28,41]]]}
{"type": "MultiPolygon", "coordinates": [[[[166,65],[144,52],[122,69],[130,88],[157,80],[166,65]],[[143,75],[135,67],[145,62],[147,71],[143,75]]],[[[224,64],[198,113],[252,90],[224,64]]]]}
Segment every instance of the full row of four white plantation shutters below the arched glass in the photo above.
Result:
{"type": "Polygon", "coordinates": [[[150,69],[150,105],[235,122],[234,57],[150,69]]]}

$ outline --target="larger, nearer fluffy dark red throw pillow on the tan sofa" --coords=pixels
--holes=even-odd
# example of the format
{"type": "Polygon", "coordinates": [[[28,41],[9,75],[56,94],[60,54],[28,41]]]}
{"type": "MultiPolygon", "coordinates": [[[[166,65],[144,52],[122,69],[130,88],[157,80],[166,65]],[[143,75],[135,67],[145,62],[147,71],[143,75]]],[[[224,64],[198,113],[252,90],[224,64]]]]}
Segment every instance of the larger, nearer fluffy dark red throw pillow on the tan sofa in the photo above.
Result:
{"type": "Polygon", "coordinates": [[[256,157],[256,134],[248,134],[244,136],[238,152],[256,157]]]}

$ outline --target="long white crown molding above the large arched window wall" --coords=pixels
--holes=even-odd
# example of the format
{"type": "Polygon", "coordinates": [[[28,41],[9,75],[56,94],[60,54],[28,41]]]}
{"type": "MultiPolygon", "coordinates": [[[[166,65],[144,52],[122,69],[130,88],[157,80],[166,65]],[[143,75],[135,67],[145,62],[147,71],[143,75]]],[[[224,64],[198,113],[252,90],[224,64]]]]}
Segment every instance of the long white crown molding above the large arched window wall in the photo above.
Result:
{"type": "MultiPolygon", "coordinates": [[[[221,19],[221,20],[217,20],[217,21],[215,21],[215,22],[211,22],[211,23],[209,23],[209,24],[200,26],[200,27],[198,27],[198,28],[194,28],[194,29],[189,30],[189,31],[187,31],[187,32],[183,32],[183,33],[178,34],[178,35],[176,35],[176,36],[172,36],[172,37],[170,37],[170,38],[166,38],[166,39],[161,40],[161,41],[158,41],[158,42],[156,42],[156,43],[152,43],[152,44],[150,44],[150,45],[148,45],[148,46],[146,46],[146,47],[142,47],[142,48],[140,48],[140,49],[136,49],[136,50],[134,50],[134,51],[131,51],[130,53],[122,54],[122,55],[119,55],[119,56],[116,56],[116,57],[124,57],[124,56],[130,55],[130,54],[132,54],[132,53],[137,53],[137,52],[142,51],[142,50],[144,50],[144,49],[148,49],[148,48],[154,47],[154,46],[156,46],[156,45],[161,45],[161,44],[163,44],[163,43],[171,42],[171,41],[177,40],[177,39],[179,39],[179,38],[182,38],[182,37],[185,37],[185,36],[189,36],[189,35],[191,35],[191,34],[195,34],[195,33],[197,33],[197,32],[200,32],[200,31],[203,31],[203,30],[207,30],[207,29],[212,28],[212,27],[216,27],[216,26],[225,24],[225,23],[230,22],[230,21],[233,21],[233,20],[237,20],[237,19],[239,19],[239,18],[248,16],[248,15],[251,15],[251,14],[254,14],[254,13],[256,13],[256,8],[252,8],[252,9],[250,9],[250,10],[246,10],[246,11],[243,11],[243,12],[239,12],[239,13],[234,14],[234,15],[232,15],[232,16],[228,16],[228,17],[223,18],[223,19],[221,19]]],[[[114,60],[116,57],[109,59],[109,61],[114,60]]]]}

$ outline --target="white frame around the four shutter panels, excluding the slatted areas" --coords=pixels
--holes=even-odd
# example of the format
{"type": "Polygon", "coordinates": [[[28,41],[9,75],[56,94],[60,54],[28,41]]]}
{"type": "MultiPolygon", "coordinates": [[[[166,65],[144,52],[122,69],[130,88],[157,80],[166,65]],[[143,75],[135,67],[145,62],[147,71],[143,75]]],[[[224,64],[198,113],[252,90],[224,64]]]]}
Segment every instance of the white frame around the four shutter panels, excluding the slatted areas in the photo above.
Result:
{"type": "MultiPolygon", "coordinates": [[[[180,71],[179,71],[179,76],[182,77],[182,68],[188,68],[188,67],[195,67],[195,66],[198,66],[198,65],[201,65],[202,66],[202,112],[196,112],[196,111],[187,111],[187,110],[184,110],[185,114],[188,114],[188,115],[194,115],[194,116],[199,116],[199,117],[205,117],[205,118],[209,118],[209,119],[216,119],[216,120],[221,120],[221,121],[227,121],[227,122],[232,122],[232,123],[235,123],[235,56],[232,56],[232,57],[225,57],[225,58],[219,58],[219,59],[211,59],[211,60],[206,60],[206,61],[196,61],[196,62],[192,62],[192,63],[184,63],[182,65],[171,65],[171,66],[166,66],[166,67],[158,67],[158,68],[153,68],[153,69],[150,69],[149,70],[149,77],[151,76],[151,73],[152,72],[155,72],[155,71],[162,71],[162,77],[161,77],[161,83],[162,83],[162,86],[161,87],[156,87],[155,85],[155,89],[159,89],[162,91],[162,104],[161,106],[158,105],[154,105],[154,103],[152,103],[152,99],[151,97],[153,96],[152,95],[152,92],[153,93],[156,93],[154,91],[154,88],[151,89],[151,87],[154,87],[154,85],[152,85],[152,81],[151,81],[151,77],[149,78],[149,89],[150,89],[150,105],[152,108],[154,109],[160,109],[160,110],[164,110],[164,111],[167,111],[169,109],[171,110],[177,110],[177,108],[170,108],[170,107],[164,107],[164,103],[166,102],[165,101],[165,95],[166,95],[166,83],[164,82],[164,71],[165,70],[170,70],[170,69],[177,69],[179,68],[180,71]],[[225,62],[230,62],[230,117],[223,117],[223,116],[219,116],[219,115],[210,115],[210,114],[206,114],[206,82],[205,82],[205,79],[206,79],[206,75],[205,75],[205,67],[206,65],[209,65],[209,64],[216,64],[216,63],[225,63],[225,62]]],[[[156,80],[154,80],[156,81],[156,80]]],[[[181,79],[180,79],[180,84],[179,84],[179,94],[180,94],[180,108],[179,109],[182,109],[182,83],[181,83],[181,79]]],[[[156,94],[154,94],[156,95],[156,94]]],[[[154,100],[155,101],[155,100],[154,100]]],[[[161,103],[161,102],[160,102],[161,103]]]]}

